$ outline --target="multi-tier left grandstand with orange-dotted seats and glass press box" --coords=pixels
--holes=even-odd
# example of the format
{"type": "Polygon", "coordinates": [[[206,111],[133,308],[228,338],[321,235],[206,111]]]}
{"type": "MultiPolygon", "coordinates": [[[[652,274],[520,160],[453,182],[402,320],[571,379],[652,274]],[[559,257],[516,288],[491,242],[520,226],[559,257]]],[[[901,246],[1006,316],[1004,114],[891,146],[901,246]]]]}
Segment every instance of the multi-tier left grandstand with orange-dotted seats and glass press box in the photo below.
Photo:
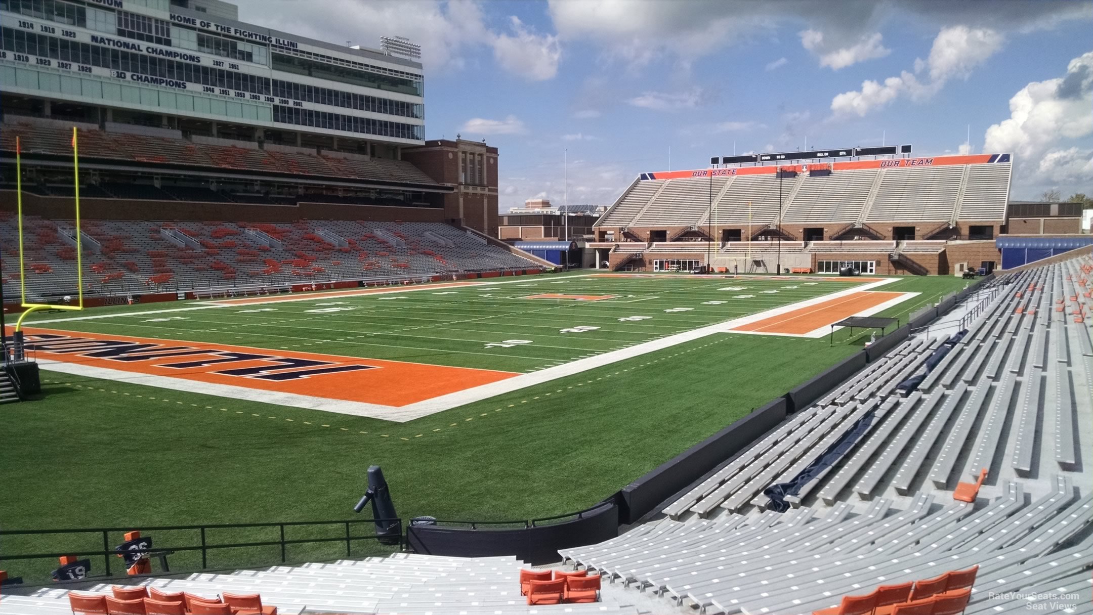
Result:
{"type": "Polygon", "coordinates": [[[16,143],[33,300],[77,294],[74,143],[89,295],[549,264],[493,239],[495,147],[424,141],[414,45],[330,45],[239,22],[225,2],[127,5],[139,11],[0,5],[5,297],[19,286],[16,143]]]}

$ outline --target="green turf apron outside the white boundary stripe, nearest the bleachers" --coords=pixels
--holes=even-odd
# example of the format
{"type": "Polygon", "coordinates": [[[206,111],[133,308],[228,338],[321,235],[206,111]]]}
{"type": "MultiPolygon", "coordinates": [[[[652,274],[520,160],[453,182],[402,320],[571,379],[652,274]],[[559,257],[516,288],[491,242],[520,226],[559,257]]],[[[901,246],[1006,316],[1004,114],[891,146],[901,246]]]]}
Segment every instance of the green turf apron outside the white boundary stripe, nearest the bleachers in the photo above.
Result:
{"type": "MultiPolygon", "coordinates": [[[[906,322],[964,285],[901,279],[883,289],[921,295],[879,316],[906,322]]],[[[855,333],[834,345],[709,335],[406,424],[43,370],[42,400],[0,409],[0,519],[8,530],[348,519],[369,464],[404,520],[574,511],[860,350],[868,332],[855,333]]]]}

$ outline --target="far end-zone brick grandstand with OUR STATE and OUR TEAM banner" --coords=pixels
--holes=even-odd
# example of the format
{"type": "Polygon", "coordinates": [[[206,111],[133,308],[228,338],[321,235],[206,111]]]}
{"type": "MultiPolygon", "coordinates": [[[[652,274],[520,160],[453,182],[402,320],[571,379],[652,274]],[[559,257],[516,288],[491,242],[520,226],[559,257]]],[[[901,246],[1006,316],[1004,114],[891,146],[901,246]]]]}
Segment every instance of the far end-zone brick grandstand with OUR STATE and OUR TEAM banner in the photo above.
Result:
{"type": "MultiPolygon", "coordinates": [[[[1010,154],[912,157],[904,145],[731,159],[642,174],[597,221],[597,263],[960,274],[998,262],[999,235],[1032,228],[1023,212],[1009,215],[1010,154]],[[1021,218],[1012,230],[1010,217],[1021,218]]],[[[1032,233],[1077,234],[1074,222],[1032,233]]]]}

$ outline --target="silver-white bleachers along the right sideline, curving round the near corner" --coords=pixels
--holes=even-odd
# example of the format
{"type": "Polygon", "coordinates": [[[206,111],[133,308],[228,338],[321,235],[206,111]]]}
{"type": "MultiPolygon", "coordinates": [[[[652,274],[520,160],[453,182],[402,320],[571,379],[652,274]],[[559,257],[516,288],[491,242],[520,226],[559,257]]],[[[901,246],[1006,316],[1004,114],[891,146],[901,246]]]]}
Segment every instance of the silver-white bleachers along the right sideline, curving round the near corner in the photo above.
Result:
{"type": "Polygon", "coordinates": [[[721,613],[809,613],[846,594],[973,565],[980,570],[967,612],[1003,613],[1025,610],[1027,600],[991,592],[1088,579],[1093,460],[1079,445],[1093,434],[1093,400],[1072,391],[1093,385],[1081,316],[1093,305],[1084,296],[1093,259],[1084,253],[988,284],[966,300],[994,297],[987,310],[907,397],[896,385],[921,374],[953,330],[903,342],[690,489],[659,521],[561,554],[604,578],[721,613]],[[863,417],[865,435],[785,498],[792,508],[764,509],[767,487],[796,476],[863,417]],[[953,500],[956,481],[980,468],[997,475],[978,500],[953,500]]]}

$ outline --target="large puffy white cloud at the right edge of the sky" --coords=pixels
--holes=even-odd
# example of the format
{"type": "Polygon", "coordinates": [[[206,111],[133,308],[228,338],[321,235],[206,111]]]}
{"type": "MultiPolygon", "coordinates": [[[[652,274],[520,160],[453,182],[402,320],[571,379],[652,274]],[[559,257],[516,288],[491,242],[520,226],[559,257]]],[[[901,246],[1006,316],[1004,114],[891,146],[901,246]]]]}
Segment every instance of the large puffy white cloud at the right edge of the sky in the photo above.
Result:
{"type": "Polygon", "coordinates": [[[1070,60],[1063,76],[1034,81],[1014,94],[1010,117],[987,129],[984,151],[1012,152],[1014,177],[1022,184],[1088,186],[1093,151],[1068,141],[1093,134],[1091,108],[1093,51],[1070,60]]]}

